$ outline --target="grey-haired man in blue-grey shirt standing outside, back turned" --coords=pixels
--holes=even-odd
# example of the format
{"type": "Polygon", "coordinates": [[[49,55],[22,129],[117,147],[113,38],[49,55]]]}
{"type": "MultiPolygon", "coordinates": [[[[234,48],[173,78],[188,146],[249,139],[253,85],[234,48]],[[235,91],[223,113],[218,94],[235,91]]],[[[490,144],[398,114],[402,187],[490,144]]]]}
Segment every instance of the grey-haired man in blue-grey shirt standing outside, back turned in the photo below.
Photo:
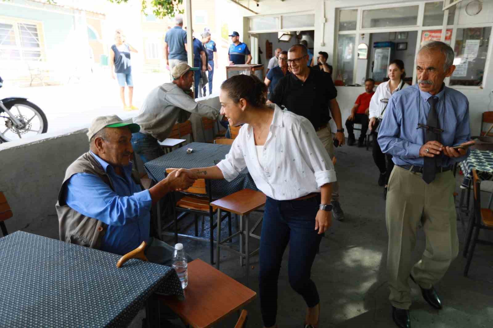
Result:
{"type": "MultiPolygon", "coordinates": [[[[175,16],[175,27],[169,29],[164,37],[165,65],[170,67],[170,76],[173,67],[187,62],[186,31],[183,30],[183,16],[175,16]]],[[[173,78],[171,78],[173,80],[173,78]]]]}

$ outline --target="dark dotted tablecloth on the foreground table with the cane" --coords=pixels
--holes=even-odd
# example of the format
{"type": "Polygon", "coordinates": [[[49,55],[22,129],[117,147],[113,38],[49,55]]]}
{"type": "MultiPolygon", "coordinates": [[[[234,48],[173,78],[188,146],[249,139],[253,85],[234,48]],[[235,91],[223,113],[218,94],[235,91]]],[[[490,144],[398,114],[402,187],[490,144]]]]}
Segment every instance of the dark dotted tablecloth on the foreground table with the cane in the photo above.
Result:
{"type": "Polygon", "coordinates": [[[0,238],[0,327],[127,327],[152,294],[183,298],[173,268],[24,231],[0,238]]]}

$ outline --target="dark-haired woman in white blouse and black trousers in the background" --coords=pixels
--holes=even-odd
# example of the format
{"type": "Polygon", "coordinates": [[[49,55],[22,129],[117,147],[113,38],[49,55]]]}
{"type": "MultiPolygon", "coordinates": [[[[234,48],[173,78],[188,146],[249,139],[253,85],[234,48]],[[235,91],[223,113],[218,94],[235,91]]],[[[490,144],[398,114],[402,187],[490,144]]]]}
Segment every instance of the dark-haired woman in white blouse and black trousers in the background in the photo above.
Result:
{"type": "MultiPolygon", "coordinates": [[[[368,129],[373,130],[378,119],[382,120],[385,115],[385,109],[387,107],[388,98],[395,92],[409,87],[409,84],[404,83],[404,63],[399,60],[393,60],[388,66],[388,78],[389,80],[384,83],[380,83],[370,100],[370,122],[368,123],[368,129]]],[[[377,142],[377,135],[373,135],[373,161],[380,170],[380,176],[378,178],[378,185],[384,186],[384,198],[387,197],[387,182],[394,167],[391,155],[385,155],[380,149],[380,145],[377,142]],[[387,161],[386,161],[387,159],[387,161]],[[387,164],[386,164],[387,162],[387,164]]]]}

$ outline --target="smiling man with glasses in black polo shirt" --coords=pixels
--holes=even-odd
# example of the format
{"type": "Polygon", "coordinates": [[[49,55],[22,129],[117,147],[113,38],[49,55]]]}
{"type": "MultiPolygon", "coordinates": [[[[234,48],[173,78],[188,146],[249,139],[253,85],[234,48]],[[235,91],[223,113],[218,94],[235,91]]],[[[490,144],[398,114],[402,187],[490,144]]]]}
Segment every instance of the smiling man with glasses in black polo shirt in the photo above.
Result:
{"type": "MultiPolygon", "coordinates": [[[[339,146],[344,144],[341,110],[337,103],[337,90],[329,73],[311,69],[307,48],[303,44],[295,44],[287,53],[287,63],[291,73],[282,77],[274,92],[269,96],[270,103],[284,106],[285,109],[306,117],[312,123],[318,138],[325,146],[330,158],[334,157],[334,144],[330,131],[329,110],[337,126],[335,139],[339,146]]],[[[339,182],[332,183],[332,214],[341,221],[344,212],[339,204],[339,182]]]]}

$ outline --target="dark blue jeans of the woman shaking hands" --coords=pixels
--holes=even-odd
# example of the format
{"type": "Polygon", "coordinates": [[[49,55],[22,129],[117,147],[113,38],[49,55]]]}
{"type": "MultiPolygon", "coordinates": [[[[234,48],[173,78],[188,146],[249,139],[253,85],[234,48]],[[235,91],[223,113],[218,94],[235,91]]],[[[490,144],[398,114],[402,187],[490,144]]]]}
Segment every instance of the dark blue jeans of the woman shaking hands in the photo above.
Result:
{"type": "Polygon", "coordinates": [[[265,327],[276,324],[278,278],[282,254],[289,243],[289,284],[308,307],[318,304],[318,292],[310,279],[321,235],[315,230],[320,195],[305,200],[267,197],[260,237],[259,294],[265,327]]]}

